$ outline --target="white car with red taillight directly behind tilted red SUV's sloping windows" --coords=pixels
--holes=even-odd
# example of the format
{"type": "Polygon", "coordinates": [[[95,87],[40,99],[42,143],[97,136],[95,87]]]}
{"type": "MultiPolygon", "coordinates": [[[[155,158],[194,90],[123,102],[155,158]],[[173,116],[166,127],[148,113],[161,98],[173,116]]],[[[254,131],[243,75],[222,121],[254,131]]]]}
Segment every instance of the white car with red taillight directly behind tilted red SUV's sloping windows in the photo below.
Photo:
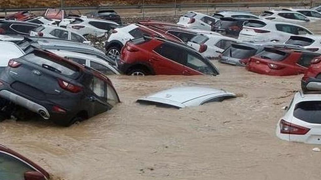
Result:
{"type": "Polygon", "coordinates": [[[193,37],[187,45],[199,51],[208,58],[218,57],[232,43],[239,42],[238,39],[216,34],[199,34],[193,37]]]}

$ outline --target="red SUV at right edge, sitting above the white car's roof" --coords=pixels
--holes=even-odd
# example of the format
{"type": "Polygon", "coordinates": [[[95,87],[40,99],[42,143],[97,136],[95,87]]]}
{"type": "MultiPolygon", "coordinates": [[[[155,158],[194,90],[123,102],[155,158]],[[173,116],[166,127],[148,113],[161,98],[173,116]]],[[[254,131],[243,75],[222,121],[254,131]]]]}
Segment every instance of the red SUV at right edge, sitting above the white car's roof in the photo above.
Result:
{"type": "Polygon", "coordinates": [[[301,88],[306,91],[321,91],[321,56],[314,58],[301,79],[301,88]]]}

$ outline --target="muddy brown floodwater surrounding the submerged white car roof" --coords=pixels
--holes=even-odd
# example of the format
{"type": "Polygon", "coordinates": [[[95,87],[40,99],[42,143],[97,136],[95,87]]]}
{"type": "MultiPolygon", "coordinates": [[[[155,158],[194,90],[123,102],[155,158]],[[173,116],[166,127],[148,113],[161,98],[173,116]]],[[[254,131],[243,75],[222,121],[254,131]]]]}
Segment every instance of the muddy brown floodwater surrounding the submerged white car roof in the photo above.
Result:
{"type": "Polygon", "coordinates": [[[221,75],[110,76],[122,103],[70,128],[0,123],[1,143],[66,180],[320,179],[318,145],[275,136],[298,76],[273,77],[214,64],[221,75]],[[174,86],[209,86],[238,98],[168,109],[135,103],[174,86]]]}

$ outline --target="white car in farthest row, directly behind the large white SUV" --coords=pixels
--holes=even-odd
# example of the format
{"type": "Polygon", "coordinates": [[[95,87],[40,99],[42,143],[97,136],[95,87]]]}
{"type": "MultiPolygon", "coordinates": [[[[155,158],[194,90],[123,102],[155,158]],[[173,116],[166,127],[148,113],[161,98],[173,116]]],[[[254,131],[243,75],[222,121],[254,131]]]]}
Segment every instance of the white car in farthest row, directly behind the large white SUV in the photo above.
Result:
{"type": "Polygon", "coordinates": [[[260,17],[263,17],[266,20],[297,23],[297,24],[311,21],[307,16],[294,11],[278,11],[278,10],[264,11],[260,15],[260,17]]]}

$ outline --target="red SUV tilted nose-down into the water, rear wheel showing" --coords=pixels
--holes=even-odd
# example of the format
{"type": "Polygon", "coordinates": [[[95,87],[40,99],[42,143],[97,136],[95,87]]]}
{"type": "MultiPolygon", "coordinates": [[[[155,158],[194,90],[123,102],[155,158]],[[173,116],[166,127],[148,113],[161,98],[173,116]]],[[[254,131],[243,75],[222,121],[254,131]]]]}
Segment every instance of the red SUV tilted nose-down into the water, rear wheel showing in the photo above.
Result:
{"type": "Polygon", "coordinates": [[[127,75],[218,75],[216,67],[191,47],[157,37],[140,37],[122,48],[118,69],[127,75]]]}

